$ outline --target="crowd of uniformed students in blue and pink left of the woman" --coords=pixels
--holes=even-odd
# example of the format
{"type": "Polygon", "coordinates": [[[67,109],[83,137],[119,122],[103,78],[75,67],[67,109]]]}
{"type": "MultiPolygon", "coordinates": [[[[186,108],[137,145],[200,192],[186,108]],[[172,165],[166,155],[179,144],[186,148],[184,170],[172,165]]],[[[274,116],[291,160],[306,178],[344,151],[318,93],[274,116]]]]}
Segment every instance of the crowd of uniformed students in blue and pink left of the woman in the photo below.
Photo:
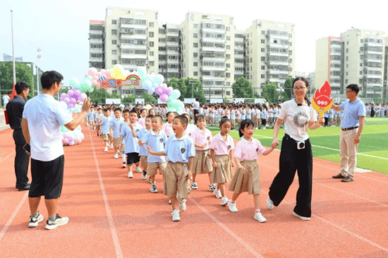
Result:
{"type": "MultiPolygon", "coordinates": [[[[137,105],[121,109],[95,105],[90,108],[85,124],[102,138],[104,152],[111,148],[114,159],[121,155],[128,178],[134,177],[133,171],[142,173],[143,180],[148,178],[152,193],[159,191],[155,180],[159,171],[163,178],[163,193],[169,197],[172,206],[173,221],[181,220],[180,212],[186,210],[186,199],[191,190],[204,187],[198,185],[198,176],[207,174],[208,189],[221,199],[221,206],[227,205],[231,212],[237,212],[236,199],[241,192],[248,192],[255,197],[254,218],[265,222],[260,211],[257,156],[269,154],[274,147],[265,149],[253,138],[253,131],[260,125],[260,122],[257,124],[261,117],[260,105],[201,106],[195,124],[190,123],[193,112],[189,106],[182,115],[166,113],[165,108],[145,109],[137,105]],[[220,133],[213,137],[206,128],[207,123],[219,126],[220,133]],[[237,124],[242,138],[235,146],[229,131],[237,124]],[[251,151],[247,152],[247,149],[251,151]],[[233,167],[236,167],[235,173],[233,167]],[[247,172],[250,176],[246,176],[247,172]],[[225,189],[229,181],[229,190],[233,192],[231,199],[225,189]]],[[[277,106],[274,109],[276,113],[277,106]]]]}

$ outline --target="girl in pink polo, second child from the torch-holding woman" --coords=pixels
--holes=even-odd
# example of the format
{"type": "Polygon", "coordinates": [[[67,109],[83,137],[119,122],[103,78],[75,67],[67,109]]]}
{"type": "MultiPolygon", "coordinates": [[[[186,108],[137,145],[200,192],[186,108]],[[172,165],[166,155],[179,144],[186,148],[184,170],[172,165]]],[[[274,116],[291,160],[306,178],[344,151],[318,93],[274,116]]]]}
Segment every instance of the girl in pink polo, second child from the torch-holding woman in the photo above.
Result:
{"type": "Polygon", "coordinates": [[[212,183],[217,183],[214,195],[222,197],[221,205],[225,206],[229,199],[225,195],[225,183],[231,179],[231,167],[234,166],[232,160],[234,156],[234,140],[228,135],[231,130],[229,118],[222,118],[219,122],[218,135],[213,137],[210,143],[210,157],[213,162],[212,183]]]}

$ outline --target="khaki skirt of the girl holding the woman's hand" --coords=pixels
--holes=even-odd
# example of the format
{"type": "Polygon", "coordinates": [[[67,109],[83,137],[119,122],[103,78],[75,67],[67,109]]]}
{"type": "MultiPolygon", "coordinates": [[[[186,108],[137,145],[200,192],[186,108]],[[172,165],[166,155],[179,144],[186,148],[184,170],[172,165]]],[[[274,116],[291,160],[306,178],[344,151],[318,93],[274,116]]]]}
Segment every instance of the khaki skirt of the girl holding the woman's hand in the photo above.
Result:
{"type": "Polygon", "coordinates": [[[248,192],[250,195],[260,194],[260,171],[257,160],[241,161],[245,171],[237,168],[229,185],[229,190],[234,193],[248,192]]]}

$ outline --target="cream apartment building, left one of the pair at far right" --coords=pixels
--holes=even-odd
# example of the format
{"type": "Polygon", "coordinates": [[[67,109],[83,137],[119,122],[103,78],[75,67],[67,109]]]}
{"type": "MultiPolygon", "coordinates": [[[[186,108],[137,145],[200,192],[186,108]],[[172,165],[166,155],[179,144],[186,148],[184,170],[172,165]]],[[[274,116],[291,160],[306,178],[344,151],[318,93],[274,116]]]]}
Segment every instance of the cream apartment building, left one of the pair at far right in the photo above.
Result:
{"type": "Polygon", "coordinates": [[[315,54],[315,83],[317,87],[321,87],[325,81],[328,81],[332,87],[332,94],[343,93],[343,59],[344,49],[341,37],[317,39],[315,54]]]}

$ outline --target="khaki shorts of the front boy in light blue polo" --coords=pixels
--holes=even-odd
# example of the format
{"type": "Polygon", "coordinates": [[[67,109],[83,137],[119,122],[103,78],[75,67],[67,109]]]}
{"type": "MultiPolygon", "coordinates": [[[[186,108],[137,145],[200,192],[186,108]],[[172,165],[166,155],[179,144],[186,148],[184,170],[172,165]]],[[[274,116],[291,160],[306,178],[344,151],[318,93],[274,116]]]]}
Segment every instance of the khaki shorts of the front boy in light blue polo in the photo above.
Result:
{"type": "Polygon", "coordinates": [[[169,162],[164,176],[167,196],[176,197],[176,193],[178,193],[179,198],[187,199],[191,191],[189,178],[187,178],[188,164],[169,162]]]}

